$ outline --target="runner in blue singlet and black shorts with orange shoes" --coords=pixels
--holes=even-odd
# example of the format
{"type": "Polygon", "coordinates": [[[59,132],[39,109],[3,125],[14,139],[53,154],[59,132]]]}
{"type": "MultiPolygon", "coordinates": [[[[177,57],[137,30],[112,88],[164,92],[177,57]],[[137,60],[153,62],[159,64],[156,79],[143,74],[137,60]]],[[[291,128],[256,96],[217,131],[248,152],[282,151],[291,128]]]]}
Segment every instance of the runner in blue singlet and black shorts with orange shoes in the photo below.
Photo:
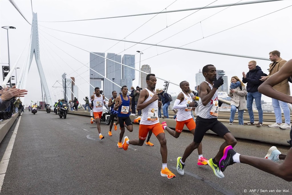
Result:
{"type": "Polygon", "coordinates": [[[133,124],[130,118],[130,112],[132,111],[132,98],[127,94],[128,87],[124,85],[122,87],[122,94],[117,96],[116,103],[114,105],[114,110],[118,110],[119,124],[121,129],[118,148],[123,148],[122,139],[125,133],[125,126],[129,132],[133,131],[133,124]]]}

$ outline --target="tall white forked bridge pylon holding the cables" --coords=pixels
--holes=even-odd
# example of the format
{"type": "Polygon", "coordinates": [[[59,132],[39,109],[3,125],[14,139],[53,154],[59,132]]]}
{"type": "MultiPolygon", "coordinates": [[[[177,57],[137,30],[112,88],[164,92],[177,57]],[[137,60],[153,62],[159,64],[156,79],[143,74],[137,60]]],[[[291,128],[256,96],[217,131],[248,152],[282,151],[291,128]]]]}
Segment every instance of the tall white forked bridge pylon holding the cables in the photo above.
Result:
{"type": "Polygon", "coordinates": [[[26,87],[26,80],[27,75],[29,72],[29,68],[32,64],[32,58],[35,58],[36,60],[36,66],[39,71],[39,76],[41,79],[41,90],[42,90],[42,97],[43,101],[45,98],[45,101],[47,103],[50,103],[53,105],[53,100],[51,99],[51,94],[48,88],[48,84],[46,81],[46,77],[44,74],[43,67],[41,65],[41,59],[40,59],[40,50],[39,50],[39,31],[38,31],[38,23],[37,23],[37,13],[33,12],[32,15],[32,30],[30,35],[30,55],[29,55],[29,61],[27,60],[27,63],[25,65],[24,71],[22,72],[20,76],[20,82],[18,82],[17,87],[20,89],[25,89],[26,87]],[[44,94],[43,94],[44,92],[44,94]]]}

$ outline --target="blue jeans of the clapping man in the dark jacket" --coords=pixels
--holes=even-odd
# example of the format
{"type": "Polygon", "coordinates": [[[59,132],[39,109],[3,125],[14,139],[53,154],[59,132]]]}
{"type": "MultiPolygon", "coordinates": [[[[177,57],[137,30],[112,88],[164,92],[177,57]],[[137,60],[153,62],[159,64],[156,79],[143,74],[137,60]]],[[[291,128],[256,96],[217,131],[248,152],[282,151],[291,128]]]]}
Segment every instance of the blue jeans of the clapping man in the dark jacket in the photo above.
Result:
{"type": "Polygon", "coordinates": [[[262,94],[260,92],[248,92],[246,96],[246,106],[248,110],[249,120],[250,122],[254,121],[253,116],[253,99],[256,101],[256,108],[258,110],[258,120],[263,123],[263,109],[261,104],[262,94]]]}

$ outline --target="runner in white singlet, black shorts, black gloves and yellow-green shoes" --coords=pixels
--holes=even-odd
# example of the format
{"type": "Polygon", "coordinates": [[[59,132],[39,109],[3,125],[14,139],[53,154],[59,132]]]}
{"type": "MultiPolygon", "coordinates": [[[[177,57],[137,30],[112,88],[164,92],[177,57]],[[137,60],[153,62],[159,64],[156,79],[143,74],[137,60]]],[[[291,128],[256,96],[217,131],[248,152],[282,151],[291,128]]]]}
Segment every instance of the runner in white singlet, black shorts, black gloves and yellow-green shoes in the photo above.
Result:
{"type": "Polygon", "coordinates": [[[208,165],[213,169],[213,172],[217,177],[224,178],[223,173],[219,169],[219,161],[223,156],[224,148],[228,145],[235,146],[237,141],[227,127],[217,120],[217,89],[223,84],[222,77],[219,77],[218,80],[216,80],[216,68],[211,64],[204,66],[202,72],[206,80],[199,86],[200,99],[199,106],[196,108],[197,118],[194,141],[187,146],[183,157],[178,157],[176,169],[180,175],[184,174],[185,160],[190,156],[194,149],[199,147],[206,131],[212,130],[214,133],[225,139],[225,142],[220,146],[217,155],[208,160],[208,165]]]}

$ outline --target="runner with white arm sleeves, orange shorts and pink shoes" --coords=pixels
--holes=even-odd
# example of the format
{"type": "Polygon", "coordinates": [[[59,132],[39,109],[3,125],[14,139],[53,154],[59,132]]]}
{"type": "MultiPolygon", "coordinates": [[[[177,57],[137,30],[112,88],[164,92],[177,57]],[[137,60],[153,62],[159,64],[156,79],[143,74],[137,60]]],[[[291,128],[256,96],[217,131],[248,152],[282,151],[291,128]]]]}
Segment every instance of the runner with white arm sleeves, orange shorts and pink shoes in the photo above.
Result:
{"type": "MultiPolygon", "coordinates": [[[[183,90],[183,92],[180,92],[178,94],[177,99],[174,102],[173,109],[178,109],[178,112],[176,114],[176,126],[175,130],[172,130],[171,128],[167,127],[166,122],[162,122],[161,126],[166,130],[169,134],[171,134],[173,137],[178,138],[180,136],[180,133],[183,131],[183,127],[186,125],[187,128],[192,132],[194,135],[196,123],[191,115],[192,107],[196,105],[195,102],[193,102],[191,96],[188,94],[190,91],[190,84],[187,81],[180,82],[180,88],[183,90]]],[[[202,152],[202,143],[200,143],[198,147],[198,165],[206,165],[208,164],[208,160],[203,157],[202,152]]]]}

